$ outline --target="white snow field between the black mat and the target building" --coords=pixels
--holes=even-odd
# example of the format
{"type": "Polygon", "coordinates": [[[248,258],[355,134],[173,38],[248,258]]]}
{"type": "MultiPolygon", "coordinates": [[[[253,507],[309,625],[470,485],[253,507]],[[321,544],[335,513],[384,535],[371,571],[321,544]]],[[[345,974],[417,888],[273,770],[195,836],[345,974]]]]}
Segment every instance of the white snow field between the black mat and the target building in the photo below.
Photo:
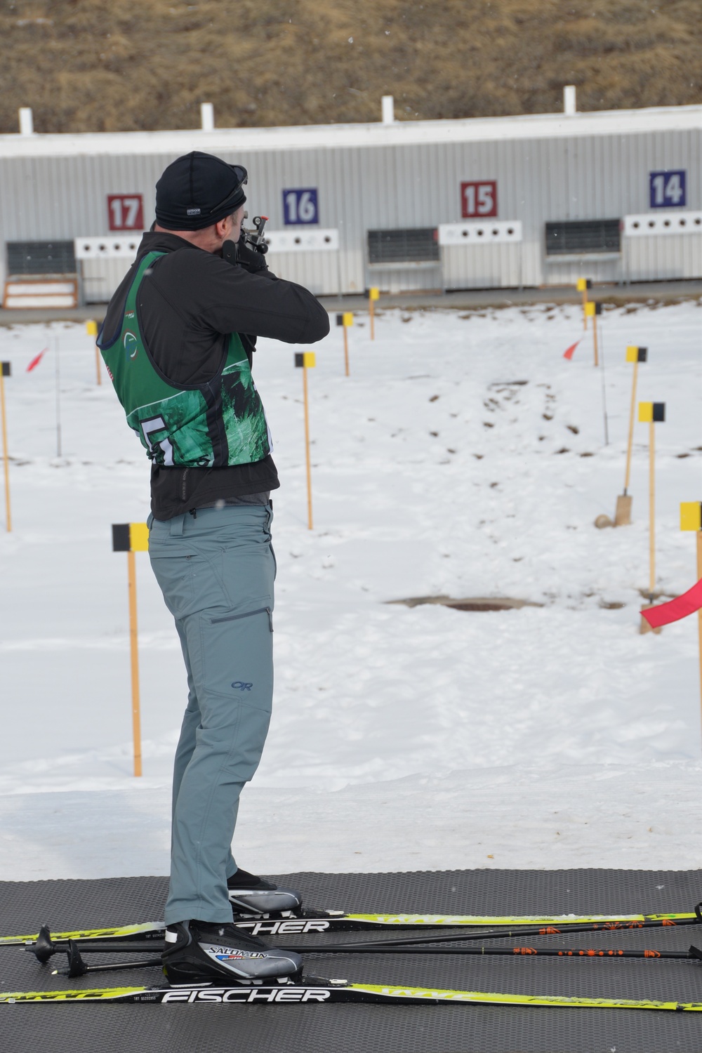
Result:
{"type": "MultiPolygon", "coordinates": [[[[624,478],[631,366],[656,425],[657,589],[696,579],[680,501],[702,496],[702,303],[606,310],[601,371],[575,306],[384,311],[316,346],[315,529],[301,372],[260,341],[276,439],[276,695],[242,800],[246,869],[702,865],[697,618],[639,634],[648,581],[647,425],[624,478]],[[526,381],[515,383],[515,381],[526,381]],[[407,597],[510,596],[500,613],[407,597]],[[617,604],[610,607],[608,604],[617,604]]],[[[137,556],[144,775],[132,775],[126,559],[148,462],[81,325],[0,330],[13,532],[0,536],[0,879],[167,873],[185,702],[177,637],[137,556]],[[47,354],[26,373],[43,349],[47,354]],[[56,356],[61,455],[57,456],[56,356]],[[103,381],[106,377],[103,372],[103,381]]]]}

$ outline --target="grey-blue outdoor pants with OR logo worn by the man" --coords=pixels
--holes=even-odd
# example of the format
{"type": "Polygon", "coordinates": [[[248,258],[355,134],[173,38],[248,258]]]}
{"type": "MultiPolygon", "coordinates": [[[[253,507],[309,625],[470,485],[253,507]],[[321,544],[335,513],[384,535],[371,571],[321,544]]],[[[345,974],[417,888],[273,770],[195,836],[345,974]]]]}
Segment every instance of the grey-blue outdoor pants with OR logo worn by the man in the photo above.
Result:
{"type": "Polygon", "coordinates": [[[226,878],[239,794],[270,720],[276,561],[269,505],[151,522],[148,551],[187,671],[173,782],[165,921],[230,921],[226,878]]]}

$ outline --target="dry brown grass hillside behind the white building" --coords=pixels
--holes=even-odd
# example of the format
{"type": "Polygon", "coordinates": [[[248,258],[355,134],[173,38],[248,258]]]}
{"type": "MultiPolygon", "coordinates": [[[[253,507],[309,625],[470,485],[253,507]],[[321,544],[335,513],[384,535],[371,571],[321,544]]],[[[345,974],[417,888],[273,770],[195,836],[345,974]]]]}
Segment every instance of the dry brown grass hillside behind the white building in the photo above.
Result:
{"type": "Polygon", "coordinates": [[[702,0],[0,0],[0,132],[702,102],[702,0]]]}

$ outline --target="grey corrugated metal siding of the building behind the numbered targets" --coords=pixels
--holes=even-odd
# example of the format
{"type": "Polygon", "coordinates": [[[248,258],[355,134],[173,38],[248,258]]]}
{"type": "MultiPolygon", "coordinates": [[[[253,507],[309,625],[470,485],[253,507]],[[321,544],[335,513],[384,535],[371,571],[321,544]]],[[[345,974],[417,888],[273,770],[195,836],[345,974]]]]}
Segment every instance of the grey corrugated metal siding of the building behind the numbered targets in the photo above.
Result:
{"type": "MultiPolygon", "coordinates": [[[[283,227],[283,187],[317,186],[320,225],[339,229],[338,266],[329,265],[332,254],[321,253],[287,254],[284,259],[279,254],[272,263],[281,275],[318,293],[335,293],[339,274],[346,293],[370,284],[398,291],[437,289],[442,282],[448,287],[517,284],[516,252],[525,285],[571,284],[580,276],[595,281],[702,276],[702,241],[696,236],[638,238],[636,245],[626,239],[622,265],[586,258],[546,263],[544,250],[547,220],[648,212],[648,173],[658,168],[685,168],[686,207],[702,207],[699,130],[425,144],[390,144],[388,135],[383,145],[335,146],[332,141],[299,150],[238,150],[236,133],[222,136],[226,145],[217,150],[220,156],[249,171],[249,216],[262,212],[272,227],[283,227]],[[367,230],[457,222],[460,183],[474,179],[497,180],[498,218],[523,223],[519,250],[495,245],[472,254],[452,249],[443,254],[443,275],[438,267],[368,267],[367,230]]],[[[111,193],[142,194],[148,226],[156,180],[171,160],[198,141],[194,132],[181,150],[169,153],[159,151],[155,136],[153,154],[0,157],[2,242],[107,234],[111,193]]],[[[105,295],[119,280],[113,263],[103,261],[106,270],[89,276],[95,287],[102,282],[105,295]]],[[[0,266],[4,273],[4,251],[0,266]]]]}

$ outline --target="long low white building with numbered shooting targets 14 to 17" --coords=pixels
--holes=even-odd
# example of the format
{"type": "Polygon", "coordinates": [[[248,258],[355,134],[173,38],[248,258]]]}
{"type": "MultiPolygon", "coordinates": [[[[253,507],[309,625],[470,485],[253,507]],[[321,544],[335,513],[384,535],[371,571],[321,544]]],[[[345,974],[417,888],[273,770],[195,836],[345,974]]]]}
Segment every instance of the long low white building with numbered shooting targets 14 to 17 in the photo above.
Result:
{"type": "Polygon", "coordinates": [[[108,299],[181,154],[244,164],[270,262],[318,294],[702,277],[702,105],[279,128],[0,136],[0,269],[108,299]]]}

